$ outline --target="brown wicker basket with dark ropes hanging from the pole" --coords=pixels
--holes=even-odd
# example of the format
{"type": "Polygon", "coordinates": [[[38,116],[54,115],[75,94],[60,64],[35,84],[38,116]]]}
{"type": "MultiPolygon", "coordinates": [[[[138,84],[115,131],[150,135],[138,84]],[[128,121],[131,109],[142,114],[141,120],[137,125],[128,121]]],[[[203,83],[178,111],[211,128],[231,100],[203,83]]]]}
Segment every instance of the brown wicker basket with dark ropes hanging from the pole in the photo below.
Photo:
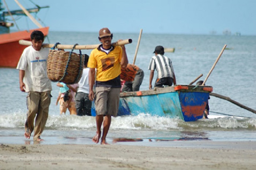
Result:
{"type": "MultiPolygon", "coordinates": [[[[76,44],[77,45],[77,44],[76,44]]],[[[65,84],[78,83],[83,74],[84,57],[73,53],[73,49],[68,51],[54,50],[49,51],[47,60],[47,75],[53,82],[64,82],[65,84]]]]}

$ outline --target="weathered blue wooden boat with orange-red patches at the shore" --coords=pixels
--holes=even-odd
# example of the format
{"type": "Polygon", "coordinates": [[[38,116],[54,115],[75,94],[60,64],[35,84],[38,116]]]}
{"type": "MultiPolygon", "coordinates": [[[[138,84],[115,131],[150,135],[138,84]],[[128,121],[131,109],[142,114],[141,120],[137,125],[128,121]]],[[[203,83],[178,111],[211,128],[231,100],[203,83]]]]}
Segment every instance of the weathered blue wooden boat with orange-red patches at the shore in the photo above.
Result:
{"type": "MultiPolygon", "coordinates": [[[[120,93],[118,116],[147,113],[184,121],[203,118],[211,86],[176,85],[138,92],[120,93]]],[[[94,104],[92,116],[95,116],[94,104]]]]}

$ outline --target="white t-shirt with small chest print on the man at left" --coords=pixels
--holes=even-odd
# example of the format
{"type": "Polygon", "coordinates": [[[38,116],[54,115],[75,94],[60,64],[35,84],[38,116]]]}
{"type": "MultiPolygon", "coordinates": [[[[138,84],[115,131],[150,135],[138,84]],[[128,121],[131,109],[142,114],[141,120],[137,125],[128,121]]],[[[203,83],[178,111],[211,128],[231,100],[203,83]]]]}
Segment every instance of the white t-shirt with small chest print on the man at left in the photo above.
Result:
{"type": "Polygon", "coordinates": [[[25,70],[24,83],[26,92],[45,92],[52,90],[52,84],[47,77],[47,59],[49,49],[41,48],[36,51],[32,46],[23,51],[17,69],[25,70]]]}

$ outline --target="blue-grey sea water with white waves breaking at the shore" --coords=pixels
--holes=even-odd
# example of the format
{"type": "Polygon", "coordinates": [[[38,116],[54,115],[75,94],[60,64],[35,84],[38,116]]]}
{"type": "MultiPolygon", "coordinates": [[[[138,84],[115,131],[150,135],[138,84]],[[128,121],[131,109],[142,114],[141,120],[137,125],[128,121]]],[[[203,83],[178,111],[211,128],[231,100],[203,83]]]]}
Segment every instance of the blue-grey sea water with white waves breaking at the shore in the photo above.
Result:
{"type": "MultiPolygon", "coordinates": [[[[50,31],[45,43],[94,45],[100,43],[97,37],[97,33],[50,31]]],[[[174,53],[165,55],[172,60],[177,84],[187,85],[200,74],[203,77],[199,80],[204,80],[223,46],[227,45],[206,85],[212,86],[214,93],[230,97],[256,110],[256,36],[142,34],[135,59],[138,37],[139,33],[113,34],[113,42],[118,39],[133,40],[125,46],[129,63],[135,60],[135,64],[144,70],[145,76],[140,90],[148,89],[148,64],[154,55],[155,46],[175,48],[174,53]]],[[[91,50],[82,50],[83,54],[89,55],[90,52],[91,50]]],[[[154,80],[155,78],[156,74],[154,80]]],[[[95,117],[69,115],[68,111],[66,115],[60,115],[59,105],[56,105],[59,87],[55,82],[52,87],[49,117],[42,134],[46,139],[44,143],[93,143],[91,138],[96,131],[95,117]]],[[[27,112],[26,93],[19,90],[18,70],[0,68],[0,94],[0,143],[20,144],[32,141],[23,137],[27,112]]],[[[150,116],[147,113],[113,117],[107,140],[114,142],[116,139],[129,138],[144,141],[143,144],[147,145],[158,143],[157,141],[176,140],[256,141],[254,113],[213,96],[209,105],[210,116],[217,116],[216,119],[184,122],[168,117],[150,116]]],[[[165,143],[168,144],[170,143],[165,143]]]]}

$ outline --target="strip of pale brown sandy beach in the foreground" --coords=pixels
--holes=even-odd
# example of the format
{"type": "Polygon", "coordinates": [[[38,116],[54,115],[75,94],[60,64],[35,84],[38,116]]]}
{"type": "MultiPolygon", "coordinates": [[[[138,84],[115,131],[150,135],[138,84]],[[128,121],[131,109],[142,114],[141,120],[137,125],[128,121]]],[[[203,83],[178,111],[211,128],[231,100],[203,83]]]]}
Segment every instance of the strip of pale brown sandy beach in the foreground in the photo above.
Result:
{"type": "Polygon", "coordinates": [[[180,141],[169,147],[122,144],[1,144],[0,169],[255,169],[256,142],[180,141]]]}

